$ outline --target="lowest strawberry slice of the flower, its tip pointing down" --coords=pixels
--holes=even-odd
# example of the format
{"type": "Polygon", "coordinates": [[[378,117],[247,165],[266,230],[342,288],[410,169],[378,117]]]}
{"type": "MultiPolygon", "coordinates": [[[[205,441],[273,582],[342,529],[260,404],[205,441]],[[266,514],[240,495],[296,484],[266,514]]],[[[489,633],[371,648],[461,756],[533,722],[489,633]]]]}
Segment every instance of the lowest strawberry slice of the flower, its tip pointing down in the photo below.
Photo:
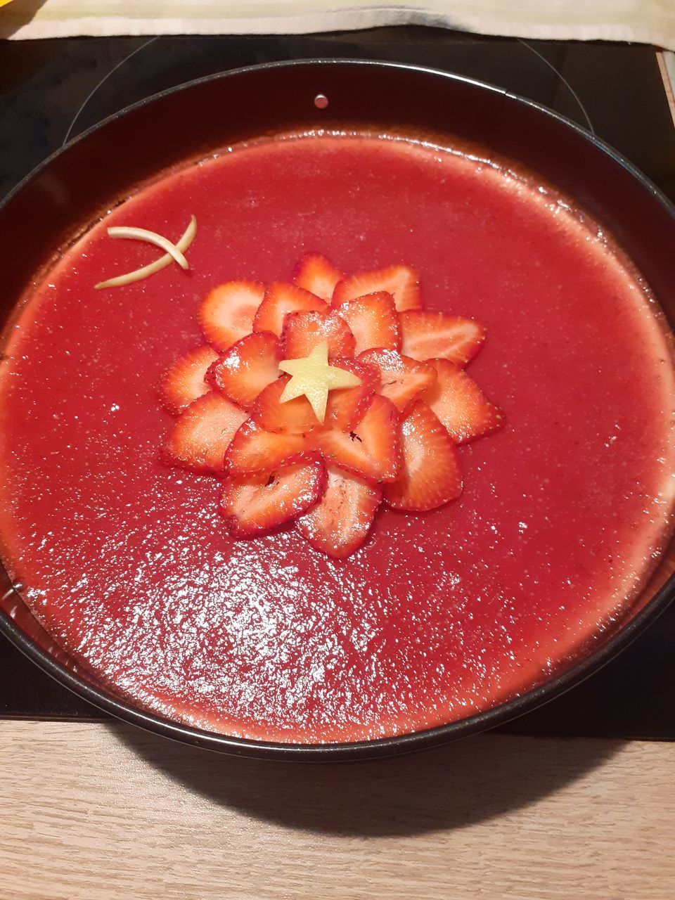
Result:
{"type": "Polygon", "coordinates": [[[382,489],[329,466],[326,492],[298,527],[313,547],[336,559],[361,546],[382,500],[382,489]]]}

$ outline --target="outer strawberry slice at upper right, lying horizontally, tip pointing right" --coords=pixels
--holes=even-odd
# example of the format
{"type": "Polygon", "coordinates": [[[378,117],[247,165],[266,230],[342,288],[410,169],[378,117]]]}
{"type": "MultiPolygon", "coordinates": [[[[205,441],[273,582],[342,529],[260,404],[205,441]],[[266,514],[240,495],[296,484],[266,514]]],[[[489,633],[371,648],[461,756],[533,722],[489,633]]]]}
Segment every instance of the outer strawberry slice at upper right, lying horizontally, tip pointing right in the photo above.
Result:
{"type": "Polygon", "coordinates": [[[473,319],[444,312],[401,313],[401,353],[413,359],[449,359],[466,365],[481,349],[485,329],[473,319]]]}

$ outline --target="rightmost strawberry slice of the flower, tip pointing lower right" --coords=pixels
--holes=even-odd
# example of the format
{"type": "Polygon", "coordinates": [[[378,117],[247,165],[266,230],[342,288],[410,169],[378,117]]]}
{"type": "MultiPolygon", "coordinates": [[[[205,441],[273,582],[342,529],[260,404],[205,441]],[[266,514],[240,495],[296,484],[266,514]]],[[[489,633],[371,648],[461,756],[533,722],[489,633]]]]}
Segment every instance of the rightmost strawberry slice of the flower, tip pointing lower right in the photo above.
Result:
{"type": "Polygon", "coordinates": [[[436,413],[455,444],[490,434],[504,424],[504,413],[490,401],[464,369],[446,359],[429,360],[437,371],[437,382],[423,400],[436,413]]]}

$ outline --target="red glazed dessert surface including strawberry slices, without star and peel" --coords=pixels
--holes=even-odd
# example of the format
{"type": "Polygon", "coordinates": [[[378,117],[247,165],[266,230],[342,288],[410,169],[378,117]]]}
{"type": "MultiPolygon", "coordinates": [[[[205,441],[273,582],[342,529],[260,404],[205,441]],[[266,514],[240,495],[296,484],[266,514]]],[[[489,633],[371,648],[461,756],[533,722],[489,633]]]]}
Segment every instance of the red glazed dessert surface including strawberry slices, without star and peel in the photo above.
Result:
{"type": "Polygon", "coordinates": [[[6,567],[96,680],[207,729],[353,741],[491,707],[617,621],[669,527],[648,289],[554,189],[459,149],[287,136],[186,165],[64,252],[4,353],[6,567]],[[94,289],[161,255],[108,226],[191,215],[189,271],[94,289]],[[323,428],[300,398],[284,419],[275,363],[314,332],[360,379],[323,428]],[[284,472],[237,481],[226,452],[284,472]]]}

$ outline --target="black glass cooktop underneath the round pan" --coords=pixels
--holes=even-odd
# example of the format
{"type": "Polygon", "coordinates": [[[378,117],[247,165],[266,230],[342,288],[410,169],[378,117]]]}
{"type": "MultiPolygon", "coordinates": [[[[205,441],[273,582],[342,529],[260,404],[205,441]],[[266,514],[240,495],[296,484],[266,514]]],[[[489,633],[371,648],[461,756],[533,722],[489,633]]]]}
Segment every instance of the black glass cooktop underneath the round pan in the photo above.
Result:
{"type": "MultiPolygon", "coordinates": [[[[388,28],[304,36],[0,42],[0,194],[68,137],[193,78],[277,59],[385,59],[457,72],[562,112],[675,200],[675,128],[656,53],[388,28]]],[[[102,173],[104,176],[104,173],[102,173]]],[[[675,604],[598,674],[502,731],[675,740],[675,604]]],[[[0,638],[0,716],[103,718],[0,638]]]]}

